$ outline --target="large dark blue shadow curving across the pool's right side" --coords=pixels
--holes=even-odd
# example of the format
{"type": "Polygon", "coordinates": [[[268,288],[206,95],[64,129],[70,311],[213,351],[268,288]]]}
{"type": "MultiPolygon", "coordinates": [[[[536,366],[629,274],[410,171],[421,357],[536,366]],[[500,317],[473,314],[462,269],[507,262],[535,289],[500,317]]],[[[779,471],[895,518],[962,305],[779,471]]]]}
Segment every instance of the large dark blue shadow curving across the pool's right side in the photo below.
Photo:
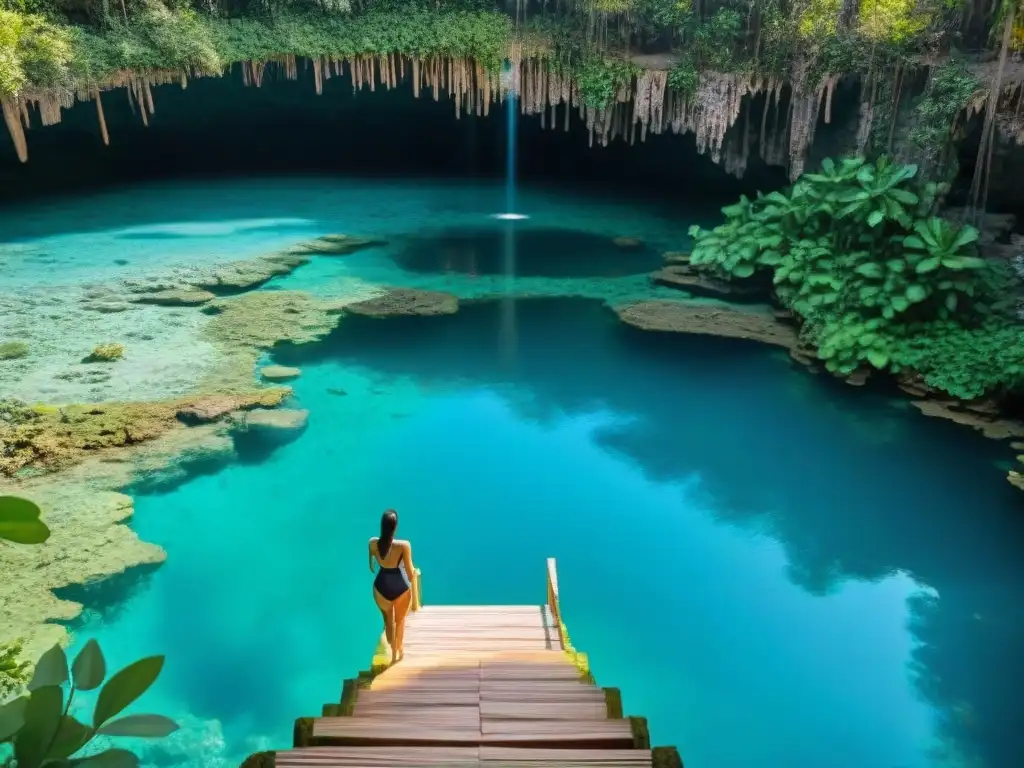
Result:
{"type": "Polygon", "coordinates": [[[776,355],[754,343],[635,331],[597,302],[516,302],[510,365],[502,304],[347,317],[324,343],[275,358],[340,360],[438,387],[520,383],[532,398],[511,404],[539,421],[600,408],[632,415],[597,439],[652,478],[698,477],[721,520],[782,544],[791,580],[808,592],[897,572],[934,590],[909,606],[920,647],[908,674],[941,713],[946,749],[988,768],[1019,765],[1024,520],[996,443],[895,408],[888,392],[780,375],[776,355]],[[678,396],[666,391],[674,385],[678,396]]]}

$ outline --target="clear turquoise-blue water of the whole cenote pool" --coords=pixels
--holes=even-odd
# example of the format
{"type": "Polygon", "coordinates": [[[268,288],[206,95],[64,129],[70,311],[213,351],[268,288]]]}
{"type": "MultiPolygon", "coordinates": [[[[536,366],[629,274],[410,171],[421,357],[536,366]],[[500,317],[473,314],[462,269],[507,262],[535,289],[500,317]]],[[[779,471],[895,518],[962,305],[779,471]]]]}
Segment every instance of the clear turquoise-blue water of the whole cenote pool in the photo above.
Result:
{"type": "MultiPolygon", "coordinates": [[[[399,254],[475,238],[489,193],[390,185],[375,217],[372,190],[327,183],[250,183],[236,188],[245,205],[224,188],[135,191],[148,220],[80,203],[93,225],[54,236],[38,213],[20,245],[92,243],[81,266],[93,274],[121,268],[112,244],[129,227],[176,236],[132,241],[137,268],[214,238],[204,257],[238,258],[304,237],[274,227],[297,200],[318,201],[308,231],[395,245],[270,288],[330,293],[344,273],[476,290],[470,272],[433,272],[426,257],[402,269],[399,254]],[[233,223],[214,236],[217,200],[233,223]],[[276,222],[262,233],[260,209],[276,222]]],[[[578,243],[641,234],[654,247],[678,245],[673,232],[701,215],[525,190],[520,207],[532,227],[584,232],[578,243]]],[[[551,249],[530,285],[599,296],[573,248],[551,249]]],[[[33,258],[13,268],[25,282],[41,280],[33,258]]],[[[147,764],[238,765],[287,746],[296,717],[338,699],[379,632],[365,547],[394,507],[428,602],[541,602],[544,558],[557,557],[574,643],[690,768],[1020,765],[1024,523],[994,443],[755,344],[634,332],[596,300],[347,318],[274,359],[303,369],[308,429],[274,450],[242,441],[239,461],[162,493],[140,486],[133,525],[168,561],[85,593],[77,643],[97,637],[115,664],[167,654],[139,707],[185,728],[147,746],[147,764]]]]}

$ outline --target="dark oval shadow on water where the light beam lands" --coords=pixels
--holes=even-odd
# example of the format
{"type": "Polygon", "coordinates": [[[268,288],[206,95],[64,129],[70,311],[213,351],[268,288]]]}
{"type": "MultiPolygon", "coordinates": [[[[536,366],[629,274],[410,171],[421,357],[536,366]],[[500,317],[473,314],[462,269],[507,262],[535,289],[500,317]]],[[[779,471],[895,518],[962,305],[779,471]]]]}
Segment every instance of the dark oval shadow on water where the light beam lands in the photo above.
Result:
{"type": "MultiPolygon", "coordinates": [[[[413,272],[504,274],[505,226],[409,238],[394,261],[413,272]]],[[[643,245],[623,248],[590,232],[524,228],[516,232],[516,273],[544,278],[618,278],[662,266],[643,245]]]]}

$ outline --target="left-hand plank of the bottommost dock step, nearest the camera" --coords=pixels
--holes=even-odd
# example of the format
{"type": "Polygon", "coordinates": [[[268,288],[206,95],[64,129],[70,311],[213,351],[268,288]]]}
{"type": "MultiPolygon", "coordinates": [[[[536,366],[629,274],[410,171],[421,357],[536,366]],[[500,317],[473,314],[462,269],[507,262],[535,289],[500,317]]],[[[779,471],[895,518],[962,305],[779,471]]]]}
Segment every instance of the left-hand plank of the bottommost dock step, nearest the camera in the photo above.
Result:
{"type": "Polygon", "coordinates": [[[362,768],[433,768],[479,765],[478,746],[308,746],[274,755],[278,768],[361,766],[362,768]]]}

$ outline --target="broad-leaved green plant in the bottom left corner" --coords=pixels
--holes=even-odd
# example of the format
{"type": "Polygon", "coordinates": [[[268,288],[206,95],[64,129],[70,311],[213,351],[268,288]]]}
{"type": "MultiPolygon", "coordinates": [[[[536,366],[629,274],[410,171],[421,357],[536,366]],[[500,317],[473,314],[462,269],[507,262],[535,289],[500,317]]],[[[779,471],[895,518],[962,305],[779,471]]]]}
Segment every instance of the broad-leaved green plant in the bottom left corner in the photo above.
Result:
{"type": "Polygon", "coordinates": [[[0,707],[0,744],[13,744],[18,768],[71,765],[133,768],[138,759],[125,750],[112,749],[87,758],[73,758],[98,734],[160,738],[177,730],[173,721],[160,715],[118,718],[153,685],[163,666],[163,656],[143,658],[104,683],[106,663],[95,640],[86,643],[71,670],[63,649],[55,645],[36,665],[29,693],[0,707]],[[78,691],[96,688],[99,696],[91,725],[86,725],[70,714],[72,703],[78,691]]]}

